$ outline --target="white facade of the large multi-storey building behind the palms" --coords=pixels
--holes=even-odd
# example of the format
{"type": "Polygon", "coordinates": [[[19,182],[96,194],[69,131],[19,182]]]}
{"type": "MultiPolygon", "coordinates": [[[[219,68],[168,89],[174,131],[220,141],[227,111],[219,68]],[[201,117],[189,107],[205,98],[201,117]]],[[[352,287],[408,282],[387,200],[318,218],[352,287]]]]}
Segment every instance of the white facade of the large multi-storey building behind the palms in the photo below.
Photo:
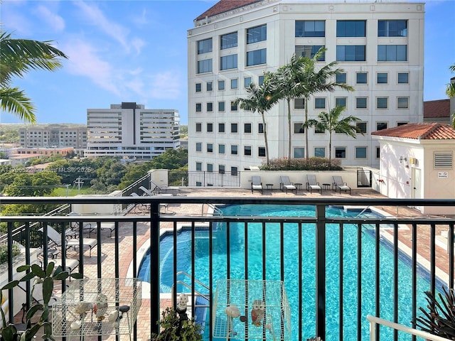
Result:
{"type": "MultiPolygon", "coordinates": [[[[196,20],[188,30],[188,169],[229,172],[260,166],[265,160],[262,119],[231,102],[247,96],[245,83],[258,84],[264,71],[277,70],[294,53],[311,53],[314,46],[327,48],[321,67],[338,59],[355,92],[316,94],[308,103],[309,118],[336,102],[346,104],[344,113],[361,119],[365,136],[333,134],[332,157],[344,166],[379,166],[379,143],[370,133],[423,118],[423,32],[422,3],[265,0],[196,20]],[[351,34],[348,28],[357,23],[360,29],[351,34]],[[397,23],[405,23],[399,33],[390,28],[397,23]],[[378,26],[386,27],[385,34],[378,26]],[[405,60],[396,60],[403,55],[405,60]],[[386,61],[378,61],[382,56],[386,61]]],[[[305,155],[301,104],[291,102],[291,156],[297,158],[305,155]]],[[[287,156],[287,104],[280,101],[266,121],[270,158],[287,156]]],[[[328,157],[328,133],[313,128],[307,133],[309,156],[328,157]]]]}

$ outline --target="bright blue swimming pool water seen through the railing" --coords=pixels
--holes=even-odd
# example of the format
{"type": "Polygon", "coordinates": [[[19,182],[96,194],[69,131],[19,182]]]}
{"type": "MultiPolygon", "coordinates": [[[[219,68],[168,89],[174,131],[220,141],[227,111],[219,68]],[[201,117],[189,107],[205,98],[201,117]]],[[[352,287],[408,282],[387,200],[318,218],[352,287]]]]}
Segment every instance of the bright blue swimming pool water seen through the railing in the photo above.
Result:
{"type": "MultiPolygon", "coordinates": [[[[305,205],[228,205],[221,207],[223,215],[255,215],[282,217],[315,217],[313,206],[305,205]]],[[[366,210],[363,216],[378,217],[378,214],[366,210]]],[[[359,211],[346,212],[340,207],[328,207],[328,217],[356,217],[359,211]]],[[[373,228],[365,225],[361,234],[362,249],[362,340],[368,340],[368,321],[366,315],[375,315],[375,237],[373,228]]],[[[249,223],[247,226],[247,276],[249,280],[261,280],[263,269],[262,256],[262,224],[249,223]]],[[[277,223],[267,223],[265,227],[265,278],[278,281],[281,274],[280,240],[284,239],[284,286],[287,290],[291,307],[291,325],[299,325],[298,321],[298,225],[285,223],[283,234],[277,223]],[[293,308],[294,307],[294,308],[293,308]]],[[[340,227],[338,224],[326,227],[326,341],[339,340],[339,306],[340,306],[340,227]]],[[[195,240],[195,278],[209,284],[208,272],[208,243],[207,230],[196,231],[195,240]]],[[[314,224],[304,224],[301,232],[302,259],[302,291],[303,291],[303,340],[314,336],[316,319],[316,228],[314,224]]],[[[357,340],[357,303],[358,303],[358,229],[353,224],[343,228],[343,340],[357,340]]],[[[213,283],[218,279],[228,278],[226,258],[226,228],[225,223],[213,227],[213,283]]],[[[177,268],[191,274],[191,232],[181,231],[177,236],[177,268]]],[[[170,292],[173,282],[173,238],[164,236],[160,244],[161,251],[161,291],[170,292]]],[[[149,254],[148,254],[149,257],[149,254]]],[[[380,317],[393,320],[393,255],[390,245],[380,244],[380,317]]],[[[409,259],[400,257],[399,261],[399,323],[410,325],[412,318],[412,272],[409,259]]],[[[419,298],[417,306],[425,306],[424,291],[429,290],[429,283],[424,271],[417,280],[419,298]]],[[[144,259],[139,277],[149,281],[149,258],[144,259]]],[[[245,279],[245,225],[230,224],[230,278],[245,279]]],[[[184,278],[178,278],[183,280],[184,278]]],[[[215,288],[214,288],[215,289],[215,288]]],[[[177,291],[186,291],[178,287],[177,291]]],[[[196,286],[197,291],[205,292],[196,286]]],[[[215,292],[215,290],[214,290],[215,292]]],[[[206,328],[208,329],[208,328],[206,328]]],[[[298,329],[293,330],[293,340],[298,340],[298,329]]],[[[402,335],[400,335],[402,337],[402,335]]],[[[381,328],[381,340],[392,340],[387,336],[387,330],[381,328]]],[[[401,339],[400,339],[401,340],[401,339]]],[[[402,340],[406,340],[403,336],[402,340]]]]}

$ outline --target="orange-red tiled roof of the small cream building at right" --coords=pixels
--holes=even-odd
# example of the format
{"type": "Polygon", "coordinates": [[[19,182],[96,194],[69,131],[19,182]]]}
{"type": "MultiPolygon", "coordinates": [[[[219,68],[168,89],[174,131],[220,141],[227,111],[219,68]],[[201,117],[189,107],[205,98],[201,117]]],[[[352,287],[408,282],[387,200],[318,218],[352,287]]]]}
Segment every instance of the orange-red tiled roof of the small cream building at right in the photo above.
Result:
{"type": "Polygon", "coordinates": [[[393,128],[373,131],[371,135],[419,140],[451,140],[455,139],[455,129],[449,124],[410,123],[402,126],[395,126],[393,128]]]}

